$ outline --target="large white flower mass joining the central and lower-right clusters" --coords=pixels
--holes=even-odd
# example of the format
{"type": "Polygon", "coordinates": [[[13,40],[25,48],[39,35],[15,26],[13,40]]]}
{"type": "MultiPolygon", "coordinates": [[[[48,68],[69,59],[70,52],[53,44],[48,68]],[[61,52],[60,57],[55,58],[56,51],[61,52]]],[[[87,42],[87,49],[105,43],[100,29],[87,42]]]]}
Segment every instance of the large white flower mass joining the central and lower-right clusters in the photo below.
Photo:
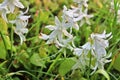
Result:
{"type": "Polygon", "coordinates": [[[55,17],[55,26],[48,25],[45,27],[51,30],[51,33],[49,35],[40,33],[40,38],[47,40],[47,44],[55,43],[58,48],[68,48],[67,45],[71,42],[72,46],[70,47],[69,45],[69,48],[73,51],[74,55],[78,56],[78,60],[76,60],[76,64],[72,69],[80,68],[83,70],[83,68],[88,66],[93,69],[91,73],[93,74],[97,69],[104,69],[104,65],[111,61],[109,60],[111,53],[108,55],[106,48],[109,47],[108,40],[112,38],[112,33],[106,34],[106,31],[102,34],[92,33],[87,43],[83,46],[75,47],[71,29],[79,30],[84,24],[90,25],[89,19],[93,15],[88,14],[88,0],[74,0],[74,2],[78,6],[72,6],[71,9],[64,6],[62,20],[60,21],[55,17]],[[90,60],[94,64],[90,64],[90,60]]]}

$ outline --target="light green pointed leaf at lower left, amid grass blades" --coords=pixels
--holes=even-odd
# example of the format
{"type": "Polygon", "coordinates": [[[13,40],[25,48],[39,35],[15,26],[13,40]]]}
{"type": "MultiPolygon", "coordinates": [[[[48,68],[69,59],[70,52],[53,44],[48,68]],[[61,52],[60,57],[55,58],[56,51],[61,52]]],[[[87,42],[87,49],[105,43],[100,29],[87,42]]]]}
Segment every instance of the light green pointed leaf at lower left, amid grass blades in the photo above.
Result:
{"type": "Polygon", "coordinates": [[[32,57],[30,58],[30,62],[35,65],[35,66],[41,66],[41,67],[46,67],[45,66],[45,61],[40,58],[39,54],[34,53],[32,57]]]}

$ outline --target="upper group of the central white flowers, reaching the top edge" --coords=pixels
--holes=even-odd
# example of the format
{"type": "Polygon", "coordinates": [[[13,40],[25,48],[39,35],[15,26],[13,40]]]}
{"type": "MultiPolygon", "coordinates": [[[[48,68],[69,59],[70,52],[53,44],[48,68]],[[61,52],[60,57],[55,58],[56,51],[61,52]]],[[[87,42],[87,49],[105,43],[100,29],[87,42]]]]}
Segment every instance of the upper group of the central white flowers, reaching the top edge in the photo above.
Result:
{"type": "Polygon", "coordinates": [[[92,18],[93,15],[88,14],[88,0],[74,0],[74,2],[76,2],[78,6],[72,7],[72,9],[67,9],[64,7],[64,17],[72,18],[73,22],[80,22],[80,26],[82,26],[84,23],[90,25],[91,23],[89,19],[92,18]]]}

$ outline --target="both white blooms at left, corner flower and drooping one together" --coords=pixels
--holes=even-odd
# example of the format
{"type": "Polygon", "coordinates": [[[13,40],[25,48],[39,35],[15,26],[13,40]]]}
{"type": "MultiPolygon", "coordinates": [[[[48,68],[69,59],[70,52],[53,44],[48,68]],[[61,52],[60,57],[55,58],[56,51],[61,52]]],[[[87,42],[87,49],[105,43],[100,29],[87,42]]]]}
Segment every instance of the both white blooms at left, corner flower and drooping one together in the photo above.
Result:
{"type": "Polygon", "coordinates": [[[23,9],[24,5],[19,0],[4,0],[0,4],[0,14],[6,22],[16,25],[14,32],[17,35],[19,35],[21,39],[21,44],[22,44],[23,41],[26,40],[24,33],[28,32],[28,29],[26,28],[26,26],[28,24],[28,18],[30,18],[30,16],[24,15],[28,12],[28,9],[27,9],[27,11],[25,12],[20,11],[19,15],[16,17],[15,20],[12,20],[12,21],[8,20],[7,14],[14,13],[14,10],[16,7],[23,9]]]}

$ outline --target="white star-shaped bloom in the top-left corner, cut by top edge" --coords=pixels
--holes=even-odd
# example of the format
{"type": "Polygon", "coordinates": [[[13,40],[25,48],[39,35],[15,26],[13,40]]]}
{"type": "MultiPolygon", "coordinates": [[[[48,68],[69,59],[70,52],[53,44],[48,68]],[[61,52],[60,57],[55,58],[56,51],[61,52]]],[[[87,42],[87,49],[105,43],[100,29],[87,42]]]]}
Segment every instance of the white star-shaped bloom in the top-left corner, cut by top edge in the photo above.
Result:
{"type": "Polygon", "coordinates": [[[1,6],[7,7],[11,13],[13,13],[15,6],[18,8],[24,8],[23,4],[19,0],[4,0],[1,6]]]}

